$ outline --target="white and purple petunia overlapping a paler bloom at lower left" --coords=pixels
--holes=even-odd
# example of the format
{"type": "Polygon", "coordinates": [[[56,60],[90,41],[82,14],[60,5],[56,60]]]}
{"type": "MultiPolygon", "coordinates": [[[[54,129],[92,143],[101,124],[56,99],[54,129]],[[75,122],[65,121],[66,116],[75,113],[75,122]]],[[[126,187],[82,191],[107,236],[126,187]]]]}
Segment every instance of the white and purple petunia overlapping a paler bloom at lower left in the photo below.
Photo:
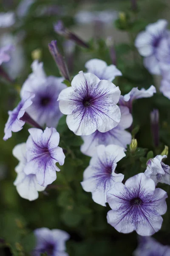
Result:
{"type": "Polygon", "coordinates": [[[35,174],[41,186],[47,186],[56,180],[56,166],[64,164],[65,155],[59,145],[59,133],[55,128],[28,129],[30,136],[26,142],[27,164],[24,172],[27,175],[35,174]]]}

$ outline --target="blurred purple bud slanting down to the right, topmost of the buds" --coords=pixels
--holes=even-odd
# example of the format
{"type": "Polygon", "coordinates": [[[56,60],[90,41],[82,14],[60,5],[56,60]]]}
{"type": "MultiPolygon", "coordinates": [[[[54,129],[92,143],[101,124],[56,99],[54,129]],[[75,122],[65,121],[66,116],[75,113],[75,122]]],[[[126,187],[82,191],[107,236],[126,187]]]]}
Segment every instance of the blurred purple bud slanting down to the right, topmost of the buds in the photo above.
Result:
{"type": "Polygon", "coordinates": [[[65,28],[65,26],[61,20],[59,20],[57,23],[54,24],[54,31],[58,35],[62,35],[65,38],[74,41],[76,44],[79,44],[82,47],[89,48],[88,44],[86,44],[77,35],[73,34],[71,31],[69,31],[67,28],[65,28]]]}

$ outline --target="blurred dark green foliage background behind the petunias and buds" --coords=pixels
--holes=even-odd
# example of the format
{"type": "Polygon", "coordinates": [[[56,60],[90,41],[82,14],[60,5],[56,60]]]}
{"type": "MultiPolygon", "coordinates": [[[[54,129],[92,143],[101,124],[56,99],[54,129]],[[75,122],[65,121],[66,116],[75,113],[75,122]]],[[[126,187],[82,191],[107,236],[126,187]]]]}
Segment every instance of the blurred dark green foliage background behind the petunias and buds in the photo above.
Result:
{"type": "MultiPolygon", "coordinates": [[[[130,0],[37,0],[32,1],[24,14],[20,4],[21,1],[17,0],[1,0],[0,3],[1,12],[12,11],[16,17],[13,26],[0,28],[0,46],[7,42],[13,42],[16,46],[11,61],[3,66],[14,82],[0,79],[0,137],[3,138],[8,110],[12,110],[20,101],[20,88],[31,73],[30,65],[36,53],[43,61],[47,75],[60,76],[48,51],[48,43],[57,40],[71,76],[74,76],[80,70],[85,71],[85,62],[91,58],[112,63],[107,44],[107,38],[111,36],[116,66],[123,74],[114,80],[114,84],[120,87],[122,95],[137,86],[148,88],[153,84],[158,89],[152,98],[139,99],[134,103],[133,127],[136,128],[134,133],[139,154],[133,156],[135,163],[127,157],[125,162],[122,160],[118,164],[118,170],[126,178],[144,172],[147,152],[160,154],[165,144],[170,146],[170,112],[167,111],[170,101],[159,93],[160,78],[151,76],[143,67],[142,58],[134,47],[134,39],[148,23],[160,18],[169,19],[169,1],[138,0],[138,9],[133,11],[130,0]],[[87,11],[91,18],[87,19],[83,13],[79,15],[81,11],[87,11]],[[102,15],[99,19],[96,19],[96,12],[98,16],[99,13],[102,15]],[[57,20],[62,20],[67,28],[88,42],[89,49],[77,45],[68,48],[66,39],[54,32],[53,24],[57,20]],[[160,113],[158,148],[154,148],[150,131],[149,115],[153,108],[158,108],[160,113]]],[[[91,193],[82,190],[80,181],[90,157],[83,156],[79,151],[82,140],[68,130],[65,117],[57,127],[60,146],[66,151],[65,164],[60,168],[57,180],[45,192],[39,193],[36,201],[20,198],[13,185],[16,177],[14,167],[18,162],[12,156],[12,149],[27,140],[28,128],[25,125],[22,131],[13,133],[6,142],[0,140],[0,256],[31,255],[35,244],[32,232],[40,227],[67,231],[71,235],[67,242],[70,256],[131,256],[137,246],[136,233],[118,233],[107,224],[109,206],[94,203],[91,193]]],[[[170,164],[170,158],[166,164],[170,164]]],[[[168,186],[162,185],[161,188],[167,191],[168,186]]],[[[162,229],[154,236],[163,244],[170,244],[169,212],[170,203],[163,217],[162,229]]]]}

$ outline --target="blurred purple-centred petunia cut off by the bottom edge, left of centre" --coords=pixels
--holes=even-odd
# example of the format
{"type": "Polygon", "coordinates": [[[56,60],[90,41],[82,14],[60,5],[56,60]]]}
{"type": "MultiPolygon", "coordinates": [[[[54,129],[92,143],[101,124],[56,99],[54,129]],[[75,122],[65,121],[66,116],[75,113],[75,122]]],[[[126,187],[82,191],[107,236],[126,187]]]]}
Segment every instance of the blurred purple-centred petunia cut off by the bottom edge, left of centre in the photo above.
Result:
{"type": "Polygon", "coordinates": [[[40,256],[42,253],[47,253],[48,256],[68,256],[68,253],[65,252],[65,242],[70,238],[70,235],[64,230],[49,230],[42,227],[34,230],[34,235],[37,244],[32,256],[40,256]]]}

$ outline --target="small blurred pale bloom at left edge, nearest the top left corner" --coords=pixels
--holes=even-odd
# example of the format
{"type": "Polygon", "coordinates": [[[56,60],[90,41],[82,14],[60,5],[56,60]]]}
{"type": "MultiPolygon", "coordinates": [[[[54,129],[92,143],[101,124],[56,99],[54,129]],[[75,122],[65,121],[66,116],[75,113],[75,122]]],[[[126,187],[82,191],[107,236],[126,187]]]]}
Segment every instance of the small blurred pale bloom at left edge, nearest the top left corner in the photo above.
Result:
{"type": "Polygon", "coordinates": [[[0,28],[8,28],[15,23],[14,12],[0,12],[0,28]]]}

